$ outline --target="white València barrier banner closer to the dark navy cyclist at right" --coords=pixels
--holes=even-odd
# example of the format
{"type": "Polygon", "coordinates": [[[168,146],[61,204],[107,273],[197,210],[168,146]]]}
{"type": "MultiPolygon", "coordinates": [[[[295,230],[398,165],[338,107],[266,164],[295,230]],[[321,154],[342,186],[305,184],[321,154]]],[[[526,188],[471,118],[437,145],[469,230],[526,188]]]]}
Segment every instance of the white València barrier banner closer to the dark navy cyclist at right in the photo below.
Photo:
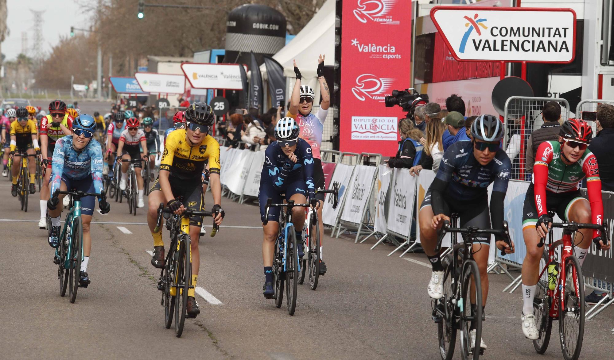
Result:
{"type": "Polygon", "coordinates": [[[416,177],[409,169],[395,169],[388,205],[388,230],[403,237],[411,231],[412,205],[416,191],[416,177]]]}

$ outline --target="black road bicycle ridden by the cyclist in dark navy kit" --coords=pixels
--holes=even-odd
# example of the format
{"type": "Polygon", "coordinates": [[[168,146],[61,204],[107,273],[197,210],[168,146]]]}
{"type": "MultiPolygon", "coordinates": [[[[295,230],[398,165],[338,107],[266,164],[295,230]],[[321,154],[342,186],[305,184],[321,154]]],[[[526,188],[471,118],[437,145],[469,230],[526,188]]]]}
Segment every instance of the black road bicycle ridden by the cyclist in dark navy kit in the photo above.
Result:
{"type": "MultiPolygon", "coordinates": [[[[438,253],[441,250],[443,237],[446,233],[451,233],[451,254],[442,259],[442,262],[447,262],[443,277],[443,297],[432,301],[433,320],[437,324],[441,359],[450,360],[454,356],[456,332],[460,330],[462,359],[477,360],[483,354],[480,339],[482,321],[485,319],[482,311],[480,270],[473,259],[473,242],[478,234],[495,234],[503,237],[503,240],[511,245],[510,231],[507,221],[503,221],[503,229],[500,230],[480,229],[475,226],[456,228],[457,213],[452,214],[451,221],[453,227],[449,221],[444,221],[435,247],[435,253],[438,253]],[[464,235],[464,242],[457,242],[456,234],[459,233],[464,235]],[[475,343],[470,343],[472,321],[475,324],[475,343]]],[[[502,255],[503,253],[504,251],[502,255]]]]}

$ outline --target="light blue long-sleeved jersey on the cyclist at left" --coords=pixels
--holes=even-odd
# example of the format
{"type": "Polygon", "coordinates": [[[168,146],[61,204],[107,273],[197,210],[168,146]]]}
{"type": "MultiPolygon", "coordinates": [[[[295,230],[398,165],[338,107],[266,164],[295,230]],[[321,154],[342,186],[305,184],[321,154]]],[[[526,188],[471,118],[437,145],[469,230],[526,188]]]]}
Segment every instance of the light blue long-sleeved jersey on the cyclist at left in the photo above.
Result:
{"type": "Polygon", "coordinates": [[[103,150],[95,139],[81,151],[72,147],[72,136],[58,139],[53,150],[51,164],[51,193],[60,188],[61,178],[82,180],[88,176],[94,183],[95,191],[103,191],[103,150]]]}

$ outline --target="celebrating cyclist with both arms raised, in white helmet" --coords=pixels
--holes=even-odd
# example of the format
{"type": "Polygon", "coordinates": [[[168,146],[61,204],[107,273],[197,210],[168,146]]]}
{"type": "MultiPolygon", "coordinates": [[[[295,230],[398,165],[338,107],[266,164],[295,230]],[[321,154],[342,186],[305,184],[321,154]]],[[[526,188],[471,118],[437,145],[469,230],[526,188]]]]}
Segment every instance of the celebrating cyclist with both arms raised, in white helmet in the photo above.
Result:
{"type": "MultiPolygon", "coordinates": [[[[294,63],[294,71],[297,75],[297,82],[295,82],[292,90],[290,107],[286,116],[297,120],[300,127],[299,137],[311,146],[314,160],[313,177],[316,188],[324,189],[324,170],[322,169],[320,147],[322,144],[324,121],[328,115],[328,106],[330,105],[330,93],[328,92],[326,79],[324,79],[324,55],[320,55],[317,62],[317,79],[320,83],[320,93],[322,94],[322,102],[317,113],[311,113],[315,98],[313,88],[309,85],[301,85],[302,77],[296,62],[294,63]]],[[[324,209],[324,194],[316,194],[316,199],[319,202],[317,217],[321,219],[322,209],[324,209]]],[[[320,275],[326,274],[326,264],[322,261],[322,239],[324,239],[324,226],[320,226],[320,275]]]]}

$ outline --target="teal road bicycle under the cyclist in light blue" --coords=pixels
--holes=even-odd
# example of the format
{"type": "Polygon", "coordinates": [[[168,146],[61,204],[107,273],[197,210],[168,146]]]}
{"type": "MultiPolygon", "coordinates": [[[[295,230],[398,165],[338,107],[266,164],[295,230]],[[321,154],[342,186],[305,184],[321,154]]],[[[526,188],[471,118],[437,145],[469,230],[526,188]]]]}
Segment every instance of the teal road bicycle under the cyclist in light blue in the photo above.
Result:
{"type": "MultiPolygon", "coordinates": [[[[60,246],[55,249],[53,262],[58,266],[58,279],[60,280],[60,296],[66,294],[69,288],[69,299],[74,303],[77,299],[77,289],[87,288],[87,285],[79,286],[79,271],[83,255],[83,223],[81,220],[81,199],[86,196],[104,197],[102,193],[85,193],[84,191],[60,191],[56,190],[53,197],[58,194],[71,196],[68,213],[64,218],[64,228],[60,232],[60,246]],[[70,286],[69,286],[70,285],[70,286]]],[[[51,226],[49,226],[51,231],[51,226]]]]}

